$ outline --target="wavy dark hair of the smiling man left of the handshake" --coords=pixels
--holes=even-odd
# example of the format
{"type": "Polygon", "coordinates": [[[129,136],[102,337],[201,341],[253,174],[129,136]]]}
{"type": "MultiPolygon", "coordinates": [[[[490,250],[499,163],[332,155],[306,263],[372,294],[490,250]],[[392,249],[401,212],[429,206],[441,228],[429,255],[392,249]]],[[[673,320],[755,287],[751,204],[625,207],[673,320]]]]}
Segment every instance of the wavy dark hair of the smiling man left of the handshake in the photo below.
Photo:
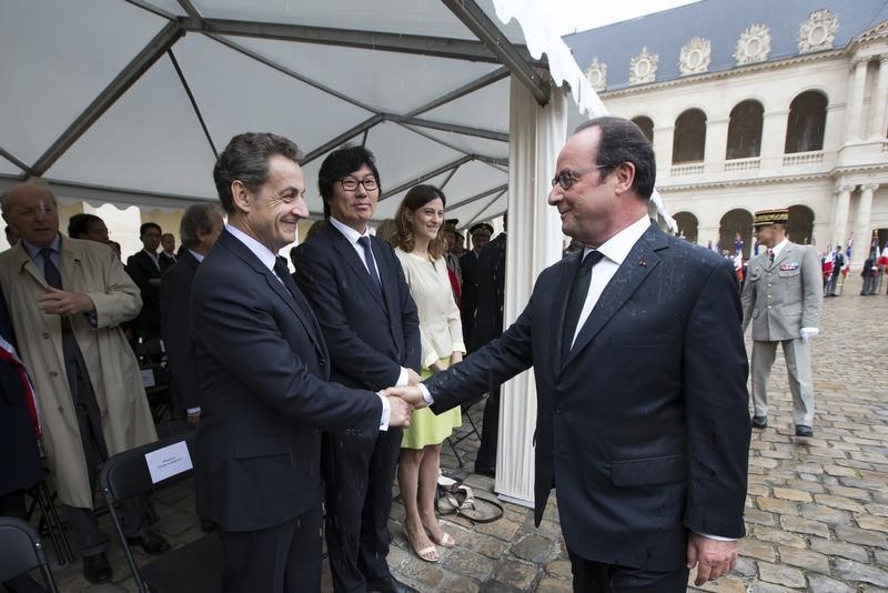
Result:
{"type": "Polygon", "coordinates": [[[213,167],[213,181],[222,209],[234,212],[231,184],[240,181],[253,193],[269,179],[269,159],[280,154],[299,163],[302,151],[290,139],[269,132],[246,132],[231,139],[213,167]]]}

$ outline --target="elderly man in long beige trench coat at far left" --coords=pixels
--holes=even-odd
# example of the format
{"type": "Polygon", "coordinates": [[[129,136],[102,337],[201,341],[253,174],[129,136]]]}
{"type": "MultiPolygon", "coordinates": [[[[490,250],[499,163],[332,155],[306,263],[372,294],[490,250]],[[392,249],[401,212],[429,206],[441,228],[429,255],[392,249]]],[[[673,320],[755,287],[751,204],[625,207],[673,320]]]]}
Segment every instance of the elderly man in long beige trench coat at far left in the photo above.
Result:
{"type": "MultiPolygon", "coordinates": [[[[157,440],[138,361],[119,328],[139,313],[139,289],[110,247],[59,233],[48,189],[13,187],[2,198],[2,214],[22,238],[0,253],[0,283],[37,393],[47,462],[84,575],[104,581],[108,539],[91,512],[98,466],[157,440]]],[[[130,514],[133,543],[154,553],[169,549],[147,530],[141,509],[130,514]]]]}

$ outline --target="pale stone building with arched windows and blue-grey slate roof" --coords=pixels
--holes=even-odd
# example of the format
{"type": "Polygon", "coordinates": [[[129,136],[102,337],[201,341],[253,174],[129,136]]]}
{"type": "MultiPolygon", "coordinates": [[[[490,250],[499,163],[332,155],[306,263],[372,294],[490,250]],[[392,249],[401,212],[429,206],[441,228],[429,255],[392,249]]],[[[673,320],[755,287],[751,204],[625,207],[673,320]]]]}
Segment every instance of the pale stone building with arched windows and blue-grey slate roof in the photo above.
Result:
{"type": "Polygon", "coordinates": [[[703,0],[568,36],[608,111],[653,140],[680,234],[748,258],[753,212],[820,251],[888,242],[888,6],[703,0]]]}

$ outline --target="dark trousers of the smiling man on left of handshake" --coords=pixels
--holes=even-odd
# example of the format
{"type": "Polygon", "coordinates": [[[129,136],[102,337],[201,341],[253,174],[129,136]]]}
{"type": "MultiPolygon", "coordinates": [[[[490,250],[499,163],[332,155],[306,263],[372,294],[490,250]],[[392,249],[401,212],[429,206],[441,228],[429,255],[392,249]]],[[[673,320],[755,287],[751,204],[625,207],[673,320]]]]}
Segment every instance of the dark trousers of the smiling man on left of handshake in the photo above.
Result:
{"type": "Polygon", "coordinates": [[[222,593],[321,591],[321,501],[292,521],[260,531],[220,531],[222,593]]]}

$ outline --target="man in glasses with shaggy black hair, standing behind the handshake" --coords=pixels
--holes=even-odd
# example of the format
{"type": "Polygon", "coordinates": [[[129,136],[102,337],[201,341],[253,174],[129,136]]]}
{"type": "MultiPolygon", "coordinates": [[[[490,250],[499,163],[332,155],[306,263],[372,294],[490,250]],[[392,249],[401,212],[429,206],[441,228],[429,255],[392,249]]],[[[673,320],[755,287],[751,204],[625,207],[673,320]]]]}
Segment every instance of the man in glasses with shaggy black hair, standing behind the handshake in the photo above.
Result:
{"type": "MultiPolygon", "coordinates": [[[[346,144],[324,159],[317,177],[329,224],[305,243],[296,279],[321,322],[331,379],[374,391],[416,384],[416,305],[391,245],[367,232],[380,198],[373,154],[346,144]]],[[[385,561],[401,438],[395,429],[324,434],[326,537],[337,592],[413,591],[385,561]]]]}

